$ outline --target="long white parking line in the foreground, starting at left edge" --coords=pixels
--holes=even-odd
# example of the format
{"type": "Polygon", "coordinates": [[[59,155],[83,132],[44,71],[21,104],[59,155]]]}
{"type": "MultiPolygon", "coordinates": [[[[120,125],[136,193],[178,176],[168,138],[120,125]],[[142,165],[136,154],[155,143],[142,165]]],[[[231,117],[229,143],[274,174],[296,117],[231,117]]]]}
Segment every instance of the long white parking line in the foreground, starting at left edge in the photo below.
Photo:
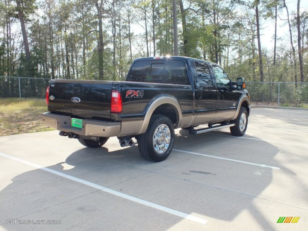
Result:
{"type": "Polygon", "coordinates": [[[157,205],[157,204],[154,204],[152,202],[149,202],[149,201],[145,201],[145,200],[142,200],[142,199],[139,199],[137,197],[132,197],[132,196],[129,196],[127,194],[124,194],[124,193],[120,193],[120,192],[117,192],[115,190],[112,190],[112,189],[109,189],[109,188],[106,188],[104,186],[101,186],[101,185],[98,185],[98,184],[94,184],[94,183],[91,183],[87,180],[82,180],[82,179],[79,179],[77,177],[74,177],[74,176],[70,176],[70,175],[67,175],[65,173],[62,173],[62,172],[58,172],[58,171],[55,171],[53,169],[50,169],[50,168],[45,168],[43,166],[40,166],[38,164],[34,164],[34,163],[31,163],[31,162],[28,162],[26,160],[22,160],[22,159],[19,159],[19,158],[16,158],[14,156],[9,156],[9,155],[6,155],[2,152],[0,152],[0,156],[3,156],[5,158],[8,158],[8,159],[11,159],[11,160],[15,160],[15,161],[18,161],[18,162],[21,162],[23,164],[27,164],[27,165],[30,165],[34,168],[39,168],[41,170],[44,170],[46,172],[50,172],[52,174],[55,174],[55,175],[58,175],[58,176],[62,176],[64,178],[67,178],[69,180],[73,180],[73,181],[76,181],[76,182],[79,182],[81,184],[85,184],[87,186],[90,186],[92,188],[96,188],[96,189],[99,189],[103,192],[106,192],[106,193],[110,193],[112,195],[115,195],[117,197],[122,197],[124,199],[127,199],[129,201],[134,201],[138,204],[141,204],[141,205],[145,205],[145,206],[148,206],[148,207],[151,207],[153,209],[158,209],[158,210],[161,210],[163,212],[166,212],[166,213],[170,213],[172,215],[175,215],[175,216],[178,216],[178,217],[182,217],[182,218],[185,218],[185,219],[188,219],[188,220],[191,220],[191,221],[195,221],[195,222],[198,222],[198,223],[201,223],[201,224],[205,224],[206,222],[208,222],[207,220],[205,219],[202,219],[200,217],[195,217],[195,216],[192,216],[192,215],[189,215],[187,213],[182,213],[180,211],[177,211],[177,210],[174,210],[174,209],[170,209],[170,208],[167,208],[167,207],[164,207],[164,206],[161,206],[161,205],[157,205]]]}

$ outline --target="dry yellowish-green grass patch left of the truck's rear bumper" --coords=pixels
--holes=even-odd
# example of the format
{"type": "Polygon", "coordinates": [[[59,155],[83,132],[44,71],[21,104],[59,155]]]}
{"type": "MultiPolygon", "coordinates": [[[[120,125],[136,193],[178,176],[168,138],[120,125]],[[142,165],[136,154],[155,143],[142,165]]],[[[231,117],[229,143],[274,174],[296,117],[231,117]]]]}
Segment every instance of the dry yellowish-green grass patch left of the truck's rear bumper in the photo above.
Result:
{"type": "Polygon", "coordinates": [[[43,124],[46,111],[45,99],[0,98],[0,136],[55,130],[43,124]]]}

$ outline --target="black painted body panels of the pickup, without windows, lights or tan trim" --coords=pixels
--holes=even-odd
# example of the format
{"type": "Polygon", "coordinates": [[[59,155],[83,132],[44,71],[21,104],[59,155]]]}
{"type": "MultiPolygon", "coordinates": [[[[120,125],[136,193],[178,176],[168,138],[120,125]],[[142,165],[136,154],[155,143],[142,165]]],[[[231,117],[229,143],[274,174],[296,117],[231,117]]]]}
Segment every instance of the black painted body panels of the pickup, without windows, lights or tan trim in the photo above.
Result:
{"type": "MultiPolygon", "coordinates": [[[[211,62],[187,57],[165,57],[165,59],[182,60],[185,63],[191,85],[51,80],[49,96],[53,95],[55,99],[49,100],[48,110],[52,113],[71,115],[76,118],[109,119],[112,121],[143,120],[148,107],[154,99],[160,96],[170,96],[179,102],[182,115],[196,115],[197,113],[197,115],[204,116],[205,118],[208,115],[220,117],[219,114],[221,113],[225,114],[225,112],[235,111],[237,105],[233,104],[238,102],[241,95],[246,94],[244,91],[219,91],[216,87],[212,68],[213,63],[211,62]],[[213,86],[200,86],[197,83],[196,70],[193,65],[195,61],[208,64],[213,79],[213,86]],[[110,113],[112,90],[120,91],[122,96],[123,110],[118,114],[110,113]],[[126,97],[128,90],[143,90],[143,96],[128,98],[126,97]],[[72,97],[78,97],[81,101],[73,103],[71,101],[72,97]]],[[[136,59],[134,63],[140,60],[153,61],[153,58],[136,59]]]]}

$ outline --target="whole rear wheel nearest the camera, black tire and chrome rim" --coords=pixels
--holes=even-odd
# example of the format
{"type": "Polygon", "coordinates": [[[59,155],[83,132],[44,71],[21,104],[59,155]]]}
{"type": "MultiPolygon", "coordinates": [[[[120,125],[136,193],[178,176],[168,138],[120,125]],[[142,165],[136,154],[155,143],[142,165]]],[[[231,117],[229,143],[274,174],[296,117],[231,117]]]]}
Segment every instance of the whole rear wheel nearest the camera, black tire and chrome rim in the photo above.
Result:
{"type": "Polygon", "coordinates": [[[138,136],[138,149],[146,160],[166,160],[174,144],[174,128],[165,115],[152,115],[147,131],[138,136]]]}

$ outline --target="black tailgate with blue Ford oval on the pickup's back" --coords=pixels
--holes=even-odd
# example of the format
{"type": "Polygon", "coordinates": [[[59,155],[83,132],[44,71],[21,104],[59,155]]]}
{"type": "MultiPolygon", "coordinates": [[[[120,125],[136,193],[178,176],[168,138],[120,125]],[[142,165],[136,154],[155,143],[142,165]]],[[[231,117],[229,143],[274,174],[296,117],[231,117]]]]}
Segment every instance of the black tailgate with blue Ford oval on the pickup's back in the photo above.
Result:
{"type": "Polygon", "coordinates": [[[113,81],[51,80],[48,110],[77,118],[110,118],[113,81]]]}

